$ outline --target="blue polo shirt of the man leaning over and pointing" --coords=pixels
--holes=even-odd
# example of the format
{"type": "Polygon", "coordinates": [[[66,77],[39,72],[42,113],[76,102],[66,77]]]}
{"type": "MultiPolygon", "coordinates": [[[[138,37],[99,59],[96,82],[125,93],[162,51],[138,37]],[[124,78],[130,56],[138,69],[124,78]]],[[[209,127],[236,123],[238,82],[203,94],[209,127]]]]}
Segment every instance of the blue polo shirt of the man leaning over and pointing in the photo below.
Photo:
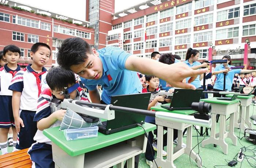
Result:
{"type": "Polygon", "coordinates": [[[112,95],[133,94],[142,91],[142,84],[137,72],[125,69],[125,61],[132,54],[112,46],[102,48],[97,52],[103,65],[102,77],[98,80],[81,78],[89,90],[95,90],[97,85],[102,85],[101,99],[108,104],[112,95]]]}

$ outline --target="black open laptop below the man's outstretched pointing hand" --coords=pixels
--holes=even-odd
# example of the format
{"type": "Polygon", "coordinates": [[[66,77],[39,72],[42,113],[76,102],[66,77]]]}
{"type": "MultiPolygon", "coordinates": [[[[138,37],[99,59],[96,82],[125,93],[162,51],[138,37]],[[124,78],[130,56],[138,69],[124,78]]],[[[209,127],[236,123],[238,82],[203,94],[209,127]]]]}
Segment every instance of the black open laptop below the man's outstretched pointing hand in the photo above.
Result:
{"type": "Polygon", "coordinates": [[[170,105],[161,105],[167,110],[191,110],[192,102],[199,102],[203,89],[175,89],[170,105]]]}

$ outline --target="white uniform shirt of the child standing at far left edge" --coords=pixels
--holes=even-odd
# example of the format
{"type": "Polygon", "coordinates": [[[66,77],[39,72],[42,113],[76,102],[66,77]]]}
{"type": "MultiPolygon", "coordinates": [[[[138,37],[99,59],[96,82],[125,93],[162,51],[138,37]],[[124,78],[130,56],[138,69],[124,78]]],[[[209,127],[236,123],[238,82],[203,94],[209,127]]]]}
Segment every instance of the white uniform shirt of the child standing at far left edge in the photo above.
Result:
{"type": "MultiPolygon", "coordinates": [[[[20,66],[18,65],[15,73],[20,70],[20,66]]],[[[12,96],[12,91],[8,89],[11,81],[12,81],[12,74],[10,73],[11,70],[7,64],[0,68],[0,95],[8,95],[12,96]]]]}

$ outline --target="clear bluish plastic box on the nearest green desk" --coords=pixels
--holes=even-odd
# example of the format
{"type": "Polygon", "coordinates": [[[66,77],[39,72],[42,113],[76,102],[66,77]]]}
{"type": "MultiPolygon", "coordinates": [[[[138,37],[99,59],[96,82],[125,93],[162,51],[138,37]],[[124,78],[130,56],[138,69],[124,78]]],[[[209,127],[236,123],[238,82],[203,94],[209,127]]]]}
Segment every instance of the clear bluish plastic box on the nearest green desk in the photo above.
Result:
{"type": "Polygon", "coordinates": [[[67,141],[94,138],[98,137],[98,129],[98,126],[89,128],[65,129],[64,136],[67,141]]]}

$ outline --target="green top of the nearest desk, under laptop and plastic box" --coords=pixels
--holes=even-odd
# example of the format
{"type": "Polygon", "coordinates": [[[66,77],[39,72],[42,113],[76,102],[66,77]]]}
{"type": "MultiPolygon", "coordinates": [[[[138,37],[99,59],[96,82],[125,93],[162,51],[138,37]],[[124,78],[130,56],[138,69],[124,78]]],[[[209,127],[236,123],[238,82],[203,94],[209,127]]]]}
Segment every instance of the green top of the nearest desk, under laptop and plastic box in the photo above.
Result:
{"type": "MultiPolygon", "coordinates": [[[[60,127],[48,128],[45,129],[43,133],[70,156],[77,156],[90,151],[95,151],[97,149],[144,134],[144,130],[138,126],[136,128],[124,130],[110,135],[105,135],[98,132],[98,137],[96,138],[67,141],[64,133],[59,131],[59,128],[60,127]]],[[[157,126],[145,122],[145,124],[143,124],[143,128],[146,130],[146,132],[149,132],[156,129],[157,126]]]]}

